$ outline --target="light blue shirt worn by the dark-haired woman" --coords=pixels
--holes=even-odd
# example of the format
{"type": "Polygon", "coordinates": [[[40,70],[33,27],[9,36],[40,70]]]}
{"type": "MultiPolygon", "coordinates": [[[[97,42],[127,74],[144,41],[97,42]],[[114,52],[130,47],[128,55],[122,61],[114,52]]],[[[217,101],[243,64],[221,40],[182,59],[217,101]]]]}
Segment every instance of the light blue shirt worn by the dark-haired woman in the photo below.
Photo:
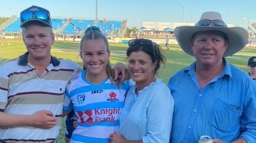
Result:
{"type": "Polygon", "coordinates": [[[128,140],[167,143],[170,139],[173,98],[169,88],[157,79],[135,93],[131,87],[120,114],[120,133],[128,140]]]}

